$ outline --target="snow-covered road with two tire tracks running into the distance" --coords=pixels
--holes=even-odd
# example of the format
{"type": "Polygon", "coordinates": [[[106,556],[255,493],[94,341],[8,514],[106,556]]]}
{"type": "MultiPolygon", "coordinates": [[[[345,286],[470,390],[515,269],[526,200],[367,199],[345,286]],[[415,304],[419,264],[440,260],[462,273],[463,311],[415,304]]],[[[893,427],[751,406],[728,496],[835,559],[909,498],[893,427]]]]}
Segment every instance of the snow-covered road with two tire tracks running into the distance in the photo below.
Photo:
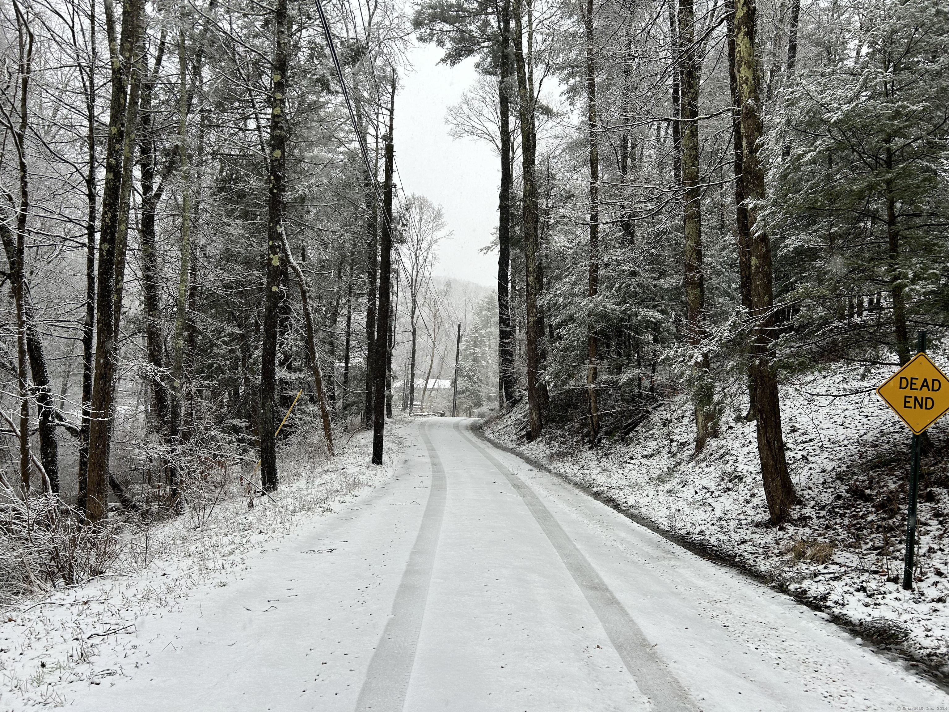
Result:
{"type": "MultiPolygon", "coordinates": [[[[479,440],[414,423],[396,476],[140,619],[96,710],[896,710],[949,696],[745,576],[479,440]]],[[[76,690],[70,690],[75,694],[76,690]]]]}

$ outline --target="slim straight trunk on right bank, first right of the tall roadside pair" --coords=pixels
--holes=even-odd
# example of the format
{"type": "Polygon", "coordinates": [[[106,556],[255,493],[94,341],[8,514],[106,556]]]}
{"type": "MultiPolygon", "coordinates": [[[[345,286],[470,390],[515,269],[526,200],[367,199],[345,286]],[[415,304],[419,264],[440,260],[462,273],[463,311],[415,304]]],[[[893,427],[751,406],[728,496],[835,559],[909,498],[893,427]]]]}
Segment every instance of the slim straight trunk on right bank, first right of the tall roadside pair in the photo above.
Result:
{"type": "MultiPolygon", "coordinates": [[[[589,169],[590,169],[590,224],[589,244],[586,259],[588,264],[588,278],[586,296],[590,299],[590,310],[595,311],[594,297],[600,290],[600,148],[599,125],[596,106],[596,47],[593,36],[593,0],[586,0],[586,14],[584,15],[586,29],[586,122],[587,138],[589,141],[589,169]]],[[[596,318],[589,317],[590,322],[586,329],[586,400],[588,405],[587,425],[590,433],[590,443],[595,444],[600,435],[600,407],[597,403],[597,359],[599,340],[597,339],[596,318]]]]}

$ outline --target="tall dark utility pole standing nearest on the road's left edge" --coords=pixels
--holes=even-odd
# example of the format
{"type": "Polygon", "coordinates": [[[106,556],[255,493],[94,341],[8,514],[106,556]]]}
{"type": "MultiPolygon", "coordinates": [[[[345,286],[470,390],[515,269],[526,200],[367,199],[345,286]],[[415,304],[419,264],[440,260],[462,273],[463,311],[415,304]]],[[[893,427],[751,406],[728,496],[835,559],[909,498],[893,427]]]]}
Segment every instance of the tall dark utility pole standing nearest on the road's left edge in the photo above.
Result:
{"type": "Polygon", "coordinates": [[[385,141],[385,185],[382,194],[382,230],[379,256],[379,305],[376,314],[376,341],[373,355],[372,463],[382,464],[385,439],[385,377],[389,347],[389,304],[392,272],[392,168],[395,159],[392,133],[395,127],[396,73],[392,72],[389,98],[389,130],[385,141]]]}

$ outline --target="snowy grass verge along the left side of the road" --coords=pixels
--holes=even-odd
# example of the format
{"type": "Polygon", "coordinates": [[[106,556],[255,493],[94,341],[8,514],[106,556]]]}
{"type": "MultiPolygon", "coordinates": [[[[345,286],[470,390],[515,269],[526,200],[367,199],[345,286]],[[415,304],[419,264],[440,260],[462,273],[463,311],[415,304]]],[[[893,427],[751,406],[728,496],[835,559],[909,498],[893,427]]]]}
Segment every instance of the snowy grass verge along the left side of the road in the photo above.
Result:
{"type": "MultiPolygon", "coordinates": [[[[255,497],[249,509],[241,473],[233,470],[211,512],[193,507],[173,520],[130,528],[108,573],[0,608],[0,710],[59,706],[68,703],[73,684],[108,684],[123,675],[114,661],[139,646],[138,620],[180,609],[201,587],[227,586],[251,567],[252,553],[279,547],[313,517],[389,478],[404,429],[397,421],[388,430],[383,467],[368,464],[371,432],[342,440],[328,461],[315,428],[301,433],[277,450],[281,485],[272,498],[255,497]]],[[[249,475],[251,468],[244,469],[249,475]]]]}

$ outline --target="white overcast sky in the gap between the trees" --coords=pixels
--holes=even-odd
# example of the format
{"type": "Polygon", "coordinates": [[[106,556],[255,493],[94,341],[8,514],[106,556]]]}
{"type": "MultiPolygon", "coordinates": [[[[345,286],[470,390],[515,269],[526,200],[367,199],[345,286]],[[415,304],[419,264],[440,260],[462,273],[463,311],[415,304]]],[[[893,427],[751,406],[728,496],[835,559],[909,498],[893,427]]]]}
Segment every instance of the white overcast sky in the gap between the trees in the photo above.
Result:
{"type": "Polygon", "coordinates": [[[497,224],[498,159],[483,141],[453,139],[445,111],[474,84],[474,61],[439,65],[441,50],[419,45],[409,53],[413,69],[403,73],[396,95],[396,164],[402,190],[419,193],[445,210],[450,238],[441,243],[435,273],[494,287],[497,253],[478,251],[491,243],[497,224]]]}

